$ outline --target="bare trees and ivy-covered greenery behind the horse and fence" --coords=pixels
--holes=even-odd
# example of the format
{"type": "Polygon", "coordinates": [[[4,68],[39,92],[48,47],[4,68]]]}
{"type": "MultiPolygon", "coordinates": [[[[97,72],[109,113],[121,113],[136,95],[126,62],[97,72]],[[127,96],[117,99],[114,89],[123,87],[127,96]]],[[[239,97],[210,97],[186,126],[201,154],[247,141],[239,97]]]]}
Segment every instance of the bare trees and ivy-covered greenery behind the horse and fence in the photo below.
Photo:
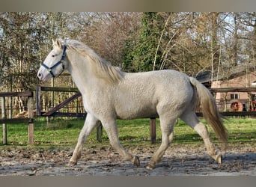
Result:
{"type": "MultiPolygon", "coordinates": [[[[0,13],[0,89],[25,91],[41,84],[36,73],[55,38],[85,42],[127,72],[174,69],[197,76],[209,70],[229,79],[229,71],[240,65],[256,71],[255,15],[0,13]]],[[[75,87],[70,76],[55,79],[55,86],[75,87]]],[[[23,111],[25,102],[13,98],[13,108],[23,111]]]]}

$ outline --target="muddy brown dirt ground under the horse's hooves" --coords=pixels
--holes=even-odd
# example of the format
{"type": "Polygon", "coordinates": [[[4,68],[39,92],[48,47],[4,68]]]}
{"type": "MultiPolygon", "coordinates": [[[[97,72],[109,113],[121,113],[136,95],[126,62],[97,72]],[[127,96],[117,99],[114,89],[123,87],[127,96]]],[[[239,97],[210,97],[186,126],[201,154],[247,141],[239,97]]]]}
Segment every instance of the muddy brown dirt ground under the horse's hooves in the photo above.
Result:
{"type": "Polygon", "coordinates": [[[251,144],[230,146],[222,165],[207,155],[204,145],[173,145],[152,171],[145,167],[156,147],[125,148],[139,156],[141,167],[122,161],[111,147],[84,149],[78,165],[73,167],[67,166],[72,149],[0,150],[0,176],[256,176],[256,147],[251,144]]]}

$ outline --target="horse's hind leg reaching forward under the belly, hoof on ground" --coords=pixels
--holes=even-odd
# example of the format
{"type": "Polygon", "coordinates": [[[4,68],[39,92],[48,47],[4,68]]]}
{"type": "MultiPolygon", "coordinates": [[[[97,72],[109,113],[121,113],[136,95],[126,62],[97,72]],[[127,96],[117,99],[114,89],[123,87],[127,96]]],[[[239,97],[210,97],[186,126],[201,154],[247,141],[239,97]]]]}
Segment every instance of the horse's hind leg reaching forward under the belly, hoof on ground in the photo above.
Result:
{"type": "Polygon", "coordinates": [[[147,165],[147,169],[153,169],[156,166],[156,163],[159,162],[159,160],[162,158],[163,154],[165,153],[165,150],[168,148],[168,145],[174,138],[174,132],[173,132],[173,126],[174,120],[165,120],[163,117],[160,118],[160,126],[162,131],[162,144],[156,150],[156,153],[153,154],[152,159],[150,159],[149,164],[147,165]]]}

